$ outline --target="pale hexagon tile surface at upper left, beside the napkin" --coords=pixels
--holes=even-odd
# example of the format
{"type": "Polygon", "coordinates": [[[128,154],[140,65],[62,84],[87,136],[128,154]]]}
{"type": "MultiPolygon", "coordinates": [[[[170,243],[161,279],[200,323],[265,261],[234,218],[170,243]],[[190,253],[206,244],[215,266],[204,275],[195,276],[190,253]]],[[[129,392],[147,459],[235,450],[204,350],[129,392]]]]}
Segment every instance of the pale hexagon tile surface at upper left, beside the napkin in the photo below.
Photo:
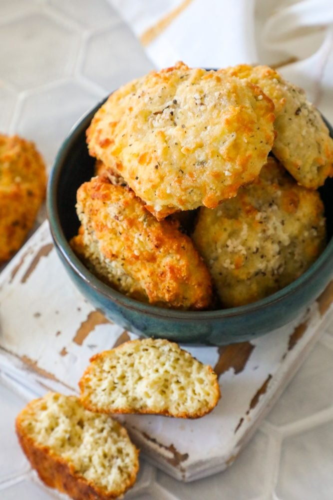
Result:
{"type": "Polygon", "coordinates": [[[0,47],[0,130],[48,165],[84,112],[153,67],[105,0],[1,0],[0,47]]]}

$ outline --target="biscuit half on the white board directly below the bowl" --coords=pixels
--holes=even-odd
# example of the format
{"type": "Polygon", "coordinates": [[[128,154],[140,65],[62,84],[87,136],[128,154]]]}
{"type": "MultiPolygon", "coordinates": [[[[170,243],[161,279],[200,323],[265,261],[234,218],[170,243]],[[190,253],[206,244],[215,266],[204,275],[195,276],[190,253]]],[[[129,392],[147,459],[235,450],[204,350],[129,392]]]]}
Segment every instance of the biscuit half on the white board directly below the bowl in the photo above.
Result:
{"type": "Polygon", "coordinates": [[[90,361],[79,387],[92,411],[198,418],[220,398],[212,368],[165,339],[128,341],[90,361]]]}

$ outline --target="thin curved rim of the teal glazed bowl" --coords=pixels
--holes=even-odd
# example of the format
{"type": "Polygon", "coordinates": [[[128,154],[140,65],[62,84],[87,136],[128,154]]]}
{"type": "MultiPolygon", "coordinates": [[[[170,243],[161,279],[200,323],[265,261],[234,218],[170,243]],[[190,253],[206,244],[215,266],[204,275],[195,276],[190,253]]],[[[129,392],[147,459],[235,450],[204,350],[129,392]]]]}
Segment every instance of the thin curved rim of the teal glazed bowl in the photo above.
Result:
{"type": "MultiPolygon", "coordinates": [[[[71,249],[69,242],[65,238],[63,229],[60,224],[60,218],[57,212],[56,195],[58,181],[63,167],[63,160],[70,152],[72,143],[76,141],[78,136],[87,128],[90,120],[96,110],[102,105],[108,96],[100,100],[90,110],[85,112],[71,127],[64,141],[58,149],[53,164],[51,166],[46,194],[46,212],[49,221],[49,227],[55,246],[60,251],[64,260],[69,264],[71,269],[77,274],[89,287],[92,287],[96,292],[102,294],[112,302],[124,306],[127,309],[135,310],[144,314],[149,314],[154,317],[179,319],[193,321],[195,319],[228,319],[234,316],[242,317],[249,313],[254,313],[269,306],[275,305],[288,298],[291,294],[299,290],[303,286],[307,286],[310,279],[324,267],[329,259],[333,257],[333,236],[328,241],[326,248],[316,261],[297,279],[292,281],[284,288],[268,295],[265,298],[251,302],[249,304],[240,305],[237,307],[229,307],[226,309],[214,310],[179,310],[172,308],[163,308],[153,304],[140,302],[134,298],[128,297],[121,292],[113,289],[111,286],[103,283],[80,261],[71,249]]],[[[322,115],[323,116],[323,115],[322,115]]],[[[323,116],[323,119],[329,129],[331,137],[333,137],[333,127],[323,116]]]]}

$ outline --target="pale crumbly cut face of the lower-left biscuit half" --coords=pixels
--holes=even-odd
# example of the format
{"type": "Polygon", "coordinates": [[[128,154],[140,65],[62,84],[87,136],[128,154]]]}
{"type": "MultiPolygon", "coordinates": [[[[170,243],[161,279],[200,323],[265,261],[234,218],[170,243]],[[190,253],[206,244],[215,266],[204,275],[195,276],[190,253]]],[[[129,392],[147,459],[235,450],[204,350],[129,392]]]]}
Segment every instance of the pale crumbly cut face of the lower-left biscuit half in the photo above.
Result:
{"type": "Polygon", "coordinates": [[[75,472],[108,491],[120,488],[133,473],[136,450],[125,430],[111,417],[86,410],[76,397],[46,394],[35,401],[22,426],[75,472]]]}

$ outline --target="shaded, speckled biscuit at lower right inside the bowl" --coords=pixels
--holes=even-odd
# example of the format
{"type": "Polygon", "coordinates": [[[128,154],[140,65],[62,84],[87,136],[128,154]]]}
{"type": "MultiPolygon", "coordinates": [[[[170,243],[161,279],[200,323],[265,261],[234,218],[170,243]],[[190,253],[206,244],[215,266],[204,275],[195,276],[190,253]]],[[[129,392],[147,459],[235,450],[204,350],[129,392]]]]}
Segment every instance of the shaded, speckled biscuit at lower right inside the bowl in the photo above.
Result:
{"type": "Polygon", "coordinates": [[[270,157],[235,198],[200,208],[193,239],[223,306],[247,304],[294,281],[316,260],[326,240],[323,203],[270,157]]]}

